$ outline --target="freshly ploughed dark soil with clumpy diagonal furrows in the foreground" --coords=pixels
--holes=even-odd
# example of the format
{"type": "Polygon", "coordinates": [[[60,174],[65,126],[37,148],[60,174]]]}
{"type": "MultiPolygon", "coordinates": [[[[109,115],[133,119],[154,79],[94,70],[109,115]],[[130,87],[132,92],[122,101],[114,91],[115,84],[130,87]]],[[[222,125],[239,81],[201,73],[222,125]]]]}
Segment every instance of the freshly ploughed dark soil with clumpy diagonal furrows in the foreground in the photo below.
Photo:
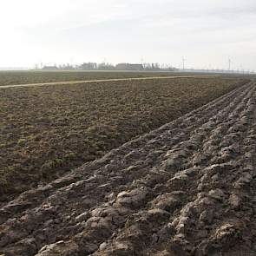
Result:
{"type": "Polygon", "coordinates": [[[0,209],[5,255],[256,253],[256,84],[0,209]]]}

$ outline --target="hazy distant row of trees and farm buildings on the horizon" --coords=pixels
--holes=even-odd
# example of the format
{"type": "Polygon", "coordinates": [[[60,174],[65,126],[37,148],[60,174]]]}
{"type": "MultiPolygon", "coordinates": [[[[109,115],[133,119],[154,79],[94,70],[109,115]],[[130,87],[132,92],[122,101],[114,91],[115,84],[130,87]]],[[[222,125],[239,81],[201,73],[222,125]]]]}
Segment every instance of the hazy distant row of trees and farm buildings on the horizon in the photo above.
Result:
{"type": "Polygon", "coordinates": [[[175,71],[172,66],[167,64],[159,64],[159,63],[141,63],[141,64],[133,64],[133,63],[118,63],[113,65],[111,63],[96,63],[96,62],[84,62],[81,65],[70,65],[63,64],[59,66],[44,66],[44,70],[135,70],[135,71],[175,71]]]}

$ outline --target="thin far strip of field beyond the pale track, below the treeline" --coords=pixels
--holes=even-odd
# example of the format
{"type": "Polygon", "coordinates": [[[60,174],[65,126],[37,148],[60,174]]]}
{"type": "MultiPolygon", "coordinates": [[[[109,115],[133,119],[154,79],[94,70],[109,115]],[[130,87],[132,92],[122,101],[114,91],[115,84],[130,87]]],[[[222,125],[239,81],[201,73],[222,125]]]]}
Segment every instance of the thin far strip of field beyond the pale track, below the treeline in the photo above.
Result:
{"type": "MultiPolygon", "coordinates": [[[[0,71],[0,86],[42,82],[69,82],[148,76],[189,75],[174,72],[121,71],[0,71]]],[[[191,74],[190,74],[191,75],[191,74]]]]}

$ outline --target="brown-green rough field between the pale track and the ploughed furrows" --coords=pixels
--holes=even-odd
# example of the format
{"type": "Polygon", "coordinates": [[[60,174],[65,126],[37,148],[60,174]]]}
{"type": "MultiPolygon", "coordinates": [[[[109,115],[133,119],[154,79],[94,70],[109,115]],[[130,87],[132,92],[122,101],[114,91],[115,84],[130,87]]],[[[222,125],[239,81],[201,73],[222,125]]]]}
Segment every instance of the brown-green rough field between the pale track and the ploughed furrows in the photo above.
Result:
{"type": "Polygon", "coordinates": [[[246,82],[177,78],[1,89],[0,198],[46,184],[246,82]]]}

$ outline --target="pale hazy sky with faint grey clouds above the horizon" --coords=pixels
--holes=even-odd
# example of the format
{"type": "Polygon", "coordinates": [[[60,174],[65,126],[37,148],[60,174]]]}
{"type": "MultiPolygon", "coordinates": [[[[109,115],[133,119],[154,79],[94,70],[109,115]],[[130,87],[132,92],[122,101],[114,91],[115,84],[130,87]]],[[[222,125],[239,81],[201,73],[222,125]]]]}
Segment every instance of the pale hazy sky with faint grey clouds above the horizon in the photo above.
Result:
{"type": "Polygon", "coordinates": [[[3,0],[0,67],[166,62],[256,69],[255,0],[3,0]]]}

